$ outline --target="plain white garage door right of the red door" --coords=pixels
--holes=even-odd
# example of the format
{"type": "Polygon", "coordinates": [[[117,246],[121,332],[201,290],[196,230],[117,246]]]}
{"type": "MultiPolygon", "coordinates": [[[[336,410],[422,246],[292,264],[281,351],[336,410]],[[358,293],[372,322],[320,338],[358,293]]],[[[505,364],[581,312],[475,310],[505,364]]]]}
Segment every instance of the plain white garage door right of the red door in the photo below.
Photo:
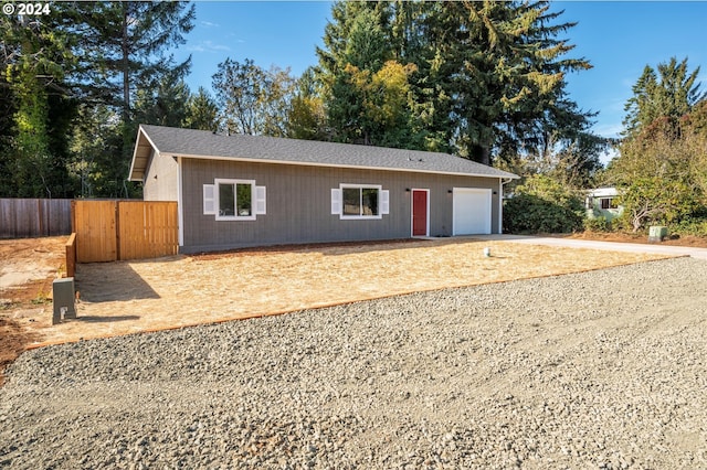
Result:
{"type": "Polygon", "coordinates": [[[454,188],[452,235],[490,234],[490,190],[454,188]]]}

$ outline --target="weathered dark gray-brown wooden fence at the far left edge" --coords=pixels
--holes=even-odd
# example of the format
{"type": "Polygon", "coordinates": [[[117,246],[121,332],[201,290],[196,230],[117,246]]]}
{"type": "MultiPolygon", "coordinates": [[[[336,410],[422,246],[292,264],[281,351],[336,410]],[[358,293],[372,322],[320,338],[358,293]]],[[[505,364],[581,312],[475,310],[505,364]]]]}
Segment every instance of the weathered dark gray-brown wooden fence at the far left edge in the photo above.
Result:
{"type": "Polygon", "coordinates": [[[0,199],[0,238],[68,234],[70,199],[0,199]]]}

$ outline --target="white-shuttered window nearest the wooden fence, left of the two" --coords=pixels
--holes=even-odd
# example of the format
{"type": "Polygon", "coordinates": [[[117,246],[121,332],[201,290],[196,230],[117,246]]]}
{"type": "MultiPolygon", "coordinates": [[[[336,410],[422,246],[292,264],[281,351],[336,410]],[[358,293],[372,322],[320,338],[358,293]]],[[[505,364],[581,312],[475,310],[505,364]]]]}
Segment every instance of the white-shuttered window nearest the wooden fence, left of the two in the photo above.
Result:
{"type": "Polygon", "coordinates": [[[203,186],[203,213],[217,221],[254,221],[265,214],[265,186],[253,180],[214,180],[203,186]]]}

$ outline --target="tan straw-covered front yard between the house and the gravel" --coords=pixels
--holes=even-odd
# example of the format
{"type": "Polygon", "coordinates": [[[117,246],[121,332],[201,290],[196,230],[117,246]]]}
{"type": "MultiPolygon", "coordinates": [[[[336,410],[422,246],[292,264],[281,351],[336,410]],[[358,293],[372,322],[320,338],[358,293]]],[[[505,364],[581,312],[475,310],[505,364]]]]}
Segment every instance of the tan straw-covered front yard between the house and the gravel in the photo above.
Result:
{"type": "Polygon", "coordinates": [[[12,320],[34,331],[32,345],[41,345],[664,257],[436,239],[84,264],[76,271],[77,320],[52,325],[51,303],[15,310],[12,320]]]}

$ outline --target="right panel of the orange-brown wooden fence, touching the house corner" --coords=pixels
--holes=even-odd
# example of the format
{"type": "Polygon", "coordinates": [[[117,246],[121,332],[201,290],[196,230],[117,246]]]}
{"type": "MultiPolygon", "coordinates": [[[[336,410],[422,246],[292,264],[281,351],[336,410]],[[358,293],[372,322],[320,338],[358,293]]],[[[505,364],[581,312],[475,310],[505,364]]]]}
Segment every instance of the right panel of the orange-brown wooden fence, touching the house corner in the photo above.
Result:
{"type": "Polygon", "coordinates": [[[176,202],[118,203],[119,259],[157,258],[179,249],[176,202]]]}

